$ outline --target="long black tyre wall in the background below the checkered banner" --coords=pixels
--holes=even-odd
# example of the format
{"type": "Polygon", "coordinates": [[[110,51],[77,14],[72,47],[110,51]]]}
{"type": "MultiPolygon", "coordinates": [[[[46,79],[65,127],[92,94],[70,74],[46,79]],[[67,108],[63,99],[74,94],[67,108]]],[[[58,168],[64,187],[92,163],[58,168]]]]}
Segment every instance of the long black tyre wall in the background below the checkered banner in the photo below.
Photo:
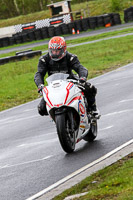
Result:
{"type": "MultiPolygon", "coordinates": [[[[133,13],[133,7],[125,11],[126,21],[131,20],[131,13],[133,13]],[[129,17],[130,16],[130,17],[129,17]]],[[[45,38],[51,38],[57,35],[72,34],[72,29],[75,32],[87,31],[88,29],[95,29],[98,27],[108,27],[121,24],[120,15],[118,13],[109,13],[105,15],[88,17],[79,19],[68,24],[63,23],[59,26],[49,26],[42,28],[26,29],[20,33],[14,34],[12,37],[0,38],[0,47],[7,47],[13,44],[20,44],[30,42],[34,40],[41,40],[45,38]]]]}

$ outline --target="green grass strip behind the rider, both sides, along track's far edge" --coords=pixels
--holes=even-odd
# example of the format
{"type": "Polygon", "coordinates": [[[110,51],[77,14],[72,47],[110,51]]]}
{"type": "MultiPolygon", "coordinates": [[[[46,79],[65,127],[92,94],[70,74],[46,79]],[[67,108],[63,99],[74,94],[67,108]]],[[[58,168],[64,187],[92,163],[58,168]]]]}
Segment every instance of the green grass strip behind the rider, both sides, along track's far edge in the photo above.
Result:
{"type": "MultiPolygon", "coordinates": [[[[80,42],[84,39],[80,39],[80,42]]],[[[78,42],[78,40],[76,41],[78,42]]],[[[69,43],[69,42],[68,42],[69,43]]],[[[89,70],[88,79],[133,62],[133,37],[68,48],[89,70]]],[[[70,44],[70,43],[69,43],[70,44]]],[[[0,111],[38,97],[34,83],[39,57],[0,66],[0,111]]]]}

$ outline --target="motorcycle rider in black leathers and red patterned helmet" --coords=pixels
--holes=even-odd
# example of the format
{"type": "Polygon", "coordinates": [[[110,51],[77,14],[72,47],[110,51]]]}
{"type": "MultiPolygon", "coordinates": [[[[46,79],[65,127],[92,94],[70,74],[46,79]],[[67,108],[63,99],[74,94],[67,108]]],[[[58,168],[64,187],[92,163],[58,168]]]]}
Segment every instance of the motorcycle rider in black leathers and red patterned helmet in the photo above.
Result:
{"type": "MultiPolygon", "coordinates": [[[[61,72],[69,74],[69,78],[71,79],[76,79],[76,75],[72,73],[72,70],[79,75],[80,83],[85,86],[84,94],[88,103],[87,111],[92,111],[95,116],[98,116],[95,101],[97,89],[86,81],[88,70],[80,64],[77,56],[66,51],[66,42],[63,37],[55,36],[51,38],[48,44],[48,53],[41,56],[39,59],[38,71],[34,77],[34,81],[38,87],[38,93],[40,93],[44,87],[44,77],[46,73],[50,76],[54,73],[61,72]]],[[[42,116],[48,115],[44,98],[41,99],[38,105],[38,112],[42,116]]]]}

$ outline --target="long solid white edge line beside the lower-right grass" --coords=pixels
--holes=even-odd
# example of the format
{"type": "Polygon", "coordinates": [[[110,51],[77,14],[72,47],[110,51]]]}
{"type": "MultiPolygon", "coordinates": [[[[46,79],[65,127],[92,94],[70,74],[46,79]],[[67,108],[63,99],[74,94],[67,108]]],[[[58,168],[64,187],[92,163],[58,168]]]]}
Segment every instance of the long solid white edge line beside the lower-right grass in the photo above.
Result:
{"type": "Polygon", "coordinates": [[[113,151],[107,153],[106,155],[102,156],[101,158],[99,158],[99,159],[93,161],[92,163],[90,163],[90,164],[88,164],[88,165],[82,167],[81,169],[75,171],[74,173],[72,173],[72,174],[66,176],[65,178],[61,179],[60,181],[54,183],[53,185],[51,185],[51,186],[45,188],[44,190],[40,191],[39,193],[35,194],[34,196],[29,197],[29,198],[26,199],[26,200],[34,200],[34,199],[36,199],[36,198],[39,198],[40,196],[44,195],[45,193],[49,192],[50,190],[52,190],[52,189],[58,187],[59,185],[61,185],[61,184],[63,184],[64,182],[68,181],[69,179],[73,178],[74,176],[80,174],[81,172],[83,172],[83,171],[89,169],[90,167],[92,167],[92,166],[94,166],[94,165],[100,163],[101,161],[105,160],[106,158],[110,157],[111,155],[115,154],[116,152],[120,151],[121,149],[123,149],[124,147],[126,147],[126,146],[128,146],[128,145],[130,145],[130,144],[132,144],[132,143],[133,143],[133,139],[130,140],[130,141],[128,141],[128,142],[126,142],[125,144],[123,144],[123,145],[117,147],[116,149],[114,149],[113,151]]]}

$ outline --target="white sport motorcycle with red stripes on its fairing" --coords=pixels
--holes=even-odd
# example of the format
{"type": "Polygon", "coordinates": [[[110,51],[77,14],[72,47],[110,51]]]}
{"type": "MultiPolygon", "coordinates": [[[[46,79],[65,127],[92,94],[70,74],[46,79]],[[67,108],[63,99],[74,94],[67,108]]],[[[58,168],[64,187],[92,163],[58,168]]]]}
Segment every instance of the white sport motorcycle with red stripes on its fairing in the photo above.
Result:
{"type": "Polygon", "coordinates": [[[60,144],[66,153],[72,153],[81,139],[92,142],[97,137],[97,119],[87,113],[84,86],[68,77],[63,73],[49,76],[42,93],[60,144]]]}

